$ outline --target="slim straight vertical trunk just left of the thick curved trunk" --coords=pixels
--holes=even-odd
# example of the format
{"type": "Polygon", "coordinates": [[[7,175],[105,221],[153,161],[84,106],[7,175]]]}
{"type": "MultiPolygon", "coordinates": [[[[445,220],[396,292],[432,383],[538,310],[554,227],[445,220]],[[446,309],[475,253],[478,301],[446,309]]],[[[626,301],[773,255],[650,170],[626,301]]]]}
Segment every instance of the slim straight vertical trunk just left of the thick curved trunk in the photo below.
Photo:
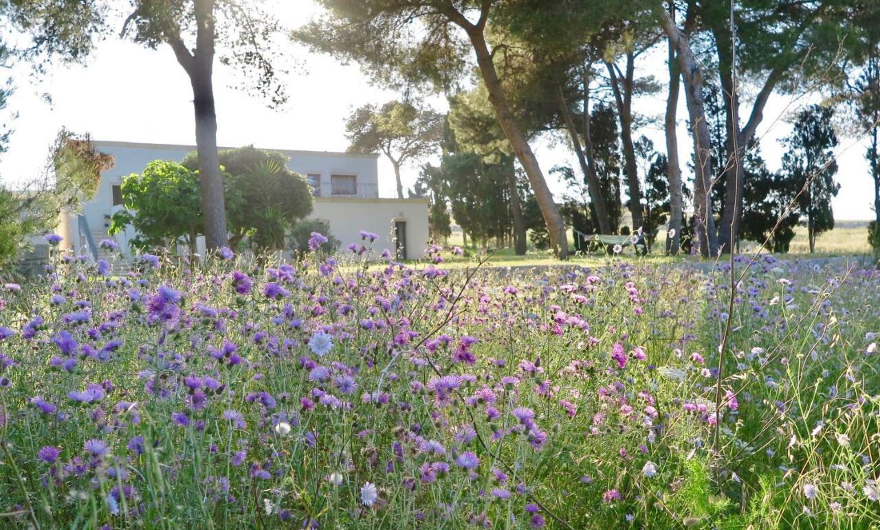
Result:
{"type": "MultiPolygon", "coordinates": [[[[673,5],[670,2],[670,5],[673,5]]],[[[674,16],[674,14],[673,14],[674,16]]],[[[681,71],[678,69],[675,48],[669,43],[669,95],[666,98],[666,117],[664,128],[666,131],[666,162],[669,174],[669,204],[670,220],[669,229],[666,232],[666,251],[672,256],[678,254],[681,247],[681,220],[682,212],[681,196],[681,165],[678,163],[678,132],[676,131],[676,113],[678,111],[678,87],[681,84],[681,71]],[[672,232],[672,236],[669,234],[672,232]]]]}

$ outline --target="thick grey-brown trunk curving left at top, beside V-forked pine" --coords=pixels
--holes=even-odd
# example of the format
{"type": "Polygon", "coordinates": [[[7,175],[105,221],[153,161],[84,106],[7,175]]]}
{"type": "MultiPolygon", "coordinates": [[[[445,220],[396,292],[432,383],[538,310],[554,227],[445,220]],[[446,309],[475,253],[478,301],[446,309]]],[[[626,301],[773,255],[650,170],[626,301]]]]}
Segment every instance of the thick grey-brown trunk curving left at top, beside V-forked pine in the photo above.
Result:
{"type": "Polygon", "coordinates": [[[694,168],[694,196],[697,202],[697,237],[703,257],[715,257],[718,243],[715,234],[715,220],[712,217],[709,193],[712,185],[712,147],[706,125],[706,106],[703,102],[703,74],[693,56],[693,50],[686,36],[672,22],[669,13],[660,9],[660,23],[666,36],[678,52],[678,68],[685,81],[687,113],[691,121],[693,152],[696,158],[694,168]]]}

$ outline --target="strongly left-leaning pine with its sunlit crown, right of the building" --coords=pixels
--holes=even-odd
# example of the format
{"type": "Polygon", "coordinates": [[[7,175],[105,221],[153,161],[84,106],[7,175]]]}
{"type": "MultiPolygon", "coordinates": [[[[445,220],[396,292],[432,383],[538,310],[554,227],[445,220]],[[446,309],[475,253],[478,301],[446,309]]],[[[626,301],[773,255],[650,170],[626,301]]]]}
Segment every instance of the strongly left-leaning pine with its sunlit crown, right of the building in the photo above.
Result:
{"type": "Polygon", "coordinates": [[[495,117],[522,165],[560,258],[568,258],[565,224],[523,128],[511,112],[487,39],[501,0],[320,0],[327,13],[294,33],[313,49],[370,66],[374,76],[447,88],[476,55],[495,117]]]}

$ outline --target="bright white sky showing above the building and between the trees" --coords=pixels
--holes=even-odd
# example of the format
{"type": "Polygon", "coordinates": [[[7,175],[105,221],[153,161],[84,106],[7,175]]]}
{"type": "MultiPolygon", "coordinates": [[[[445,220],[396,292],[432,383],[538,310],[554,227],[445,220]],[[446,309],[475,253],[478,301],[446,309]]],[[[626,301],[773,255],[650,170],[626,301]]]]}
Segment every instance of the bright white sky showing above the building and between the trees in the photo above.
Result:
{"type": "MultiPolygon", "coordinates": [[[[278,4],[282,20],[289,25],[302,24],[316,8],[312,0],[278,4]],[[296,7],[290,7],[296,4],[296,7]]],[[[310,54],[302,47],[285,44],[286,52],[299,63],[285,78],[290,94],[288,105],[268,109],[258,99],[234,87],[245,82],[238,72],[220,65],[215,67],[215,98],[217,110],[217,142],[224,146],[253,144],[261,148],[310,149],[344,151],[344,122],[357,106],[381,104],[398,97],[393,91],[370,85],[356,65],[344,66],[334,58],[310,54]]],[[[666,82],[665,51],[641,59],[641,67],[655,65],[652,71],[666,82]]],[[[636,72],[640,72],[636,63],[636,72]]],[[[9,70],[7,70],[9,71],[9,70]]],[[[646,70],[642,70],[643,72],[646,70]]],[[[5,72],[4,72],[5,73],[5,72]]],[[[10,98],[8,111],[18,113],[11,127],[9,150],[0,156],[0,178],[6,183],[26,180],[39,174],[48,156],[48,147],[61,127],[77,133],[90,133],[96,140],[124,142],[194,144],[192,89],[187,75],[175,61],[168,47],[149,50],[115,38],[102,42],[85,66],[55,68],[39,81],[29,76],[26,64],[9,71],[17,86],[10,98]],[[43,94],[51,96],[47,103],[43,94]]],[[[663,117],[665,94],[642,98],[635,111],[647,116],[663,117]]],[[[748,98],[745,101],[751,103],[748,98]]],[[[431,98],[438,110],[444,109],[443,98],[431,98]]],[[[778,139],[788,134],[788,113],[804,100],[774,96],[767,105],[765,119],[759,128],[761,150],[771,170],[781,159],[778,139]]],[[[743,113],[749,107],[744,105],[743,113]]],[[[678,143],[682,161],[691,159],[691,138],[686,130],[684,94],[679,102],[678,143]]],[[[3,119],[6,119],[4,115],[3,119]]],[[[655,148],[663,151],[662,122],[636,131],[647,135],[655,148]]],[[[868,165],[863,159],[866,142],[841,135],[838,149],[840,171],[837,179],[840,194],[833,202],[835,217],[840,220],[871,219],[873,191],[868,165]]],[[[565,191],[561,182],[548,174],[556,164],[577,167],[576,158],[561,142],[541,140],[533,146],[542,169],[550,179],[557,199],[565,191]]],[[[413,185],[417,165],[403,172],[404,185],[413,185]]],[[[391,164],[379,160],[380,194],[394,195],[391,164]]]]}

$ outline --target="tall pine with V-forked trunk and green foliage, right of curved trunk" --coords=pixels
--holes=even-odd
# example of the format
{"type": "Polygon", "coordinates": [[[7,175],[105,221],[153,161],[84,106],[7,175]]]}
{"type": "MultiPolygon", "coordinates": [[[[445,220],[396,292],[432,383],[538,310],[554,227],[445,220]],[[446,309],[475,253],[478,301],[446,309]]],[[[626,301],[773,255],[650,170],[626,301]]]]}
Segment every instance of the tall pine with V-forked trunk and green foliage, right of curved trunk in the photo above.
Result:
{"type": "Polygon", "coordinates": [[[848,32],[841,31],[848,9],[860,4],[850,0],[736,2],[731,9],[731,3],[690,3],[714,48],[715,75],[721,86],[726,156],[716,160],[715,167],[720,176],[716,185],[726,188],[718,223],[719,250],[724,252],[737,241],[744,180],[748,178],[744,173],[745,150],[763,120],[768,99],[775,90],[810,91],[816,85],[813,82],[837,83],[829,66],[840,53],[841,41],[849,39],[845,36],[848,32]],[[731,24],[735,24],[736,33],[731,24]],[[806,79],[811,83],[799,82],[806,79]],[[743,91],[743,86],[750,90],[743,91]],[[743,120],[740,105],[749,92],[754,97],[743,120]]]}

